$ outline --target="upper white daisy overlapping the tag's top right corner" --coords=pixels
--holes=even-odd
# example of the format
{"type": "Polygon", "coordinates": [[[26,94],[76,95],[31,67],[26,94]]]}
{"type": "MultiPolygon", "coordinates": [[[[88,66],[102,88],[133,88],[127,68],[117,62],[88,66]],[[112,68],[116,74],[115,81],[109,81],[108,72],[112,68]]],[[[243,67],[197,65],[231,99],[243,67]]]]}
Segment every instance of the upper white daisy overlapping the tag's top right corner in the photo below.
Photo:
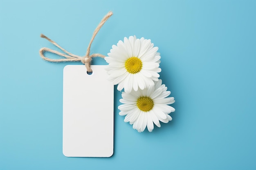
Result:
{"type": "Polygon", "coordinates": [[[137,39],[135,36],[118,41],[113,45],[109,57],[105,57],[109,80],[117,85],[117,89],[124,89],[126,93],[133,90],[145,89],[158,81],[160,53],[150,39],[137,39]]]}

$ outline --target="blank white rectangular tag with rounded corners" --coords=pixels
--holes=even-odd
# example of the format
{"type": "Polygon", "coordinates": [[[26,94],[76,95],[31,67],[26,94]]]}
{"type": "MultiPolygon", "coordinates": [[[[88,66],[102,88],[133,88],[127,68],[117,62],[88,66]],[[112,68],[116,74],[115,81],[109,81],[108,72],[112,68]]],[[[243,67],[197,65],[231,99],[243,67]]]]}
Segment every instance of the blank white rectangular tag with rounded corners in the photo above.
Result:
{"type": "Polygon", "coordinates": [[[114,136],[114,85],[105,65],[67,65],[63,70],[63,154],[110,157],[114,136]]]}

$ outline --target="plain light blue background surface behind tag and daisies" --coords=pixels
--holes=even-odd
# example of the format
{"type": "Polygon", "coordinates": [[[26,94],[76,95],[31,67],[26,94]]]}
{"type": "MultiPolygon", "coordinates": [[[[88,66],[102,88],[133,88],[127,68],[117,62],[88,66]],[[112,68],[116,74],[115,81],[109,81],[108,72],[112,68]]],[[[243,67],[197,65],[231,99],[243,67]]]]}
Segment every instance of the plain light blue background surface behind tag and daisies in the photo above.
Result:
{"type": "Polygon", "coordinates": [[[254,0],[1,0],[0,169],[255,170],[255,9],[254,0]],[[138,133],[118,115],[115,90],[114,155],[68,158],[62,154],[63,68],[81,63],[44,61],[39,49],[56,48],[39,36],[84,55],[110,10],[91,51],[107,54],[130,35],[151,39],[176,111],[153,133],[138,133]]]}

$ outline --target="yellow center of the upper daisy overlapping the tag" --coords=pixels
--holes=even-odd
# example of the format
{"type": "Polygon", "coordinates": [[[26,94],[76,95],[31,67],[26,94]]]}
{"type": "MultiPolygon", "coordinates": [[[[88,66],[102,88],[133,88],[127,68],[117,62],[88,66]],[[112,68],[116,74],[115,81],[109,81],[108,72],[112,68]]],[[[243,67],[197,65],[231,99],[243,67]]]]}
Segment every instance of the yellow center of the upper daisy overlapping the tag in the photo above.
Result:
{"type": "Polygon", "coordinates": [[[129,73],[135,74],[142,68],[142,62],[137,57],[130,57],[125,61],[125,68],[129,73]]]}

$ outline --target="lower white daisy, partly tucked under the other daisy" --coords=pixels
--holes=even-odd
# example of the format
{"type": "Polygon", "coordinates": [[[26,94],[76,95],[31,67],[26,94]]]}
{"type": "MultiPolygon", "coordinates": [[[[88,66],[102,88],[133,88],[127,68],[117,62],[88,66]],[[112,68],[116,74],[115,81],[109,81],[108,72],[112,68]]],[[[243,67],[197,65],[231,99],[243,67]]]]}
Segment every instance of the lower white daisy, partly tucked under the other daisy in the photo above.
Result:
{"type": "Polygon", "coordinates": [[[174,103],[173,97],[167,97],[171,94],[166,91],[167,87],[162,84],[162,80],[154,82],[146,89],[138,89],[137,92],[132,90],[129,94],[122,93],[119,115],[125,116],[124,122],[133,124],[132,128],[138,132],[143,132],[147,126],[148,131],[152,132],[154,124],[160,127],[160,122],[168,123],[172,120],[168,114],[175,109],[170,104],[174,103]],[[154,123],[154,124],[153,124],[154,123]]]}

